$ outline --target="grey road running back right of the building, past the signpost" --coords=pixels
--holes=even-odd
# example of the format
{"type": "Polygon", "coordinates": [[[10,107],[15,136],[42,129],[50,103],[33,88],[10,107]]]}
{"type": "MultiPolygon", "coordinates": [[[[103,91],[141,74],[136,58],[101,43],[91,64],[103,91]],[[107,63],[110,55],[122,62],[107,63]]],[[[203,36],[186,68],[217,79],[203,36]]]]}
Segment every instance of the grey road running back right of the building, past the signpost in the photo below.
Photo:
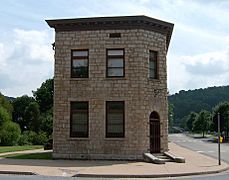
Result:
{"type": "MultiPolygon", "coordinates": [[[[192,138],[185,134],[170,134],[169,140],[182,147],[218,158],[218,144],[209,141],[207,138],[192,138]]],[[[221,144],[221,158],[229,163],[229,143],[221,144]]]]}

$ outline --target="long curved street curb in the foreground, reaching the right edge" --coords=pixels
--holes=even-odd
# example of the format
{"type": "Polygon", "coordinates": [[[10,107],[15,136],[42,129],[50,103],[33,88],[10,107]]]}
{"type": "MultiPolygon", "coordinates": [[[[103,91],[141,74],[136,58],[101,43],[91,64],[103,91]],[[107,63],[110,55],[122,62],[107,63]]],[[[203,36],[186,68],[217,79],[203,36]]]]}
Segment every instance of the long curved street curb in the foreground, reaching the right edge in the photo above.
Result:
{"type": "Polygon", "coordinates": [[[174,174],[148,174],[148,175],[132,175],[132,174],[76,174],[72,177],[94,177],[94,178],[164,178],[164,177],[180,177],[180,176],[194,176],[194,175],[206,175],[217,174],[229,169],[229,166],[219,170],[191,172],[191,173],[174,173],[174,174]]]}

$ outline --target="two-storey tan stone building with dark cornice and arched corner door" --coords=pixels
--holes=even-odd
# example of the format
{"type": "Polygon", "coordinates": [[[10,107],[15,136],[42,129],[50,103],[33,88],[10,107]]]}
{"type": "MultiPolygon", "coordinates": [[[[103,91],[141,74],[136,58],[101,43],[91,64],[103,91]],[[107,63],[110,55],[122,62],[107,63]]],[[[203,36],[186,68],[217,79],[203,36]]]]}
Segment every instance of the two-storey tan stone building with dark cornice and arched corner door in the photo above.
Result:
{"type": "Polygon", "coordinates": [[[53,157],[142,159],[167,151],[173,24],[147,16],[47,23],[56,32],[53,157]]]}

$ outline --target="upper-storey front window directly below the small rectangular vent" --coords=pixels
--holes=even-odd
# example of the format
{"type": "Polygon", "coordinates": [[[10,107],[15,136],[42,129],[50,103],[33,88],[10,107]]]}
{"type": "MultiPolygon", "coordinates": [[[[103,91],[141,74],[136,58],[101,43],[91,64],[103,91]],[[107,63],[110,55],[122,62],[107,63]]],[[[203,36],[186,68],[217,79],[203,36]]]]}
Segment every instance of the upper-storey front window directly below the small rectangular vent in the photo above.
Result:
{"type": "Polygon", "coordinates": [[[107,50],[107,77],[124,77],[124,49],[107,50]]]}

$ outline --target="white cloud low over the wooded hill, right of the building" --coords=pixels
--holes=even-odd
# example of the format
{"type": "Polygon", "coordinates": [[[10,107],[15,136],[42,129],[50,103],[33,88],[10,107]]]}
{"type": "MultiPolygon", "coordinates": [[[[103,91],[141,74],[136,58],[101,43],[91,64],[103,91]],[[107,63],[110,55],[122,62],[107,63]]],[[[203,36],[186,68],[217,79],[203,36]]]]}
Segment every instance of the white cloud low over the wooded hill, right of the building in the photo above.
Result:
{"type": "Polygon", "coordinates": [[[229,84],[229,48],[193,56],[169,57],[169,90],[197,89],[229,84]]]}

